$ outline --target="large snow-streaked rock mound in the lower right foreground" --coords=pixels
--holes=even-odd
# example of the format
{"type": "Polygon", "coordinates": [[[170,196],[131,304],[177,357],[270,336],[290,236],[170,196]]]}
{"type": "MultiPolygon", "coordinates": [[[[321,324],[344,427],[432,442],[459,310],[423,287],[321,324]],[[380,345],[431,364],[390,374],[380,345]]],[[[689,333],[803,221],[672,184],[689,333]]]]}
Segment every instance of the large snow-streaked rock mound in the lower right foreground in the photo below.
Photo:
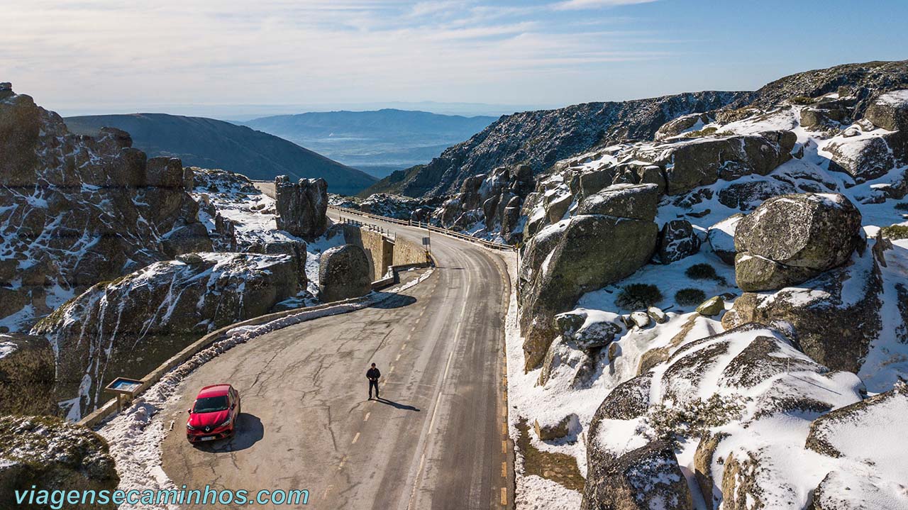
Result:
{"type": "Polygon", "coordinates": [[[860,400],[862,381],[816,363],[778,329],[746,324],[704,338],[684,329],[656,369],[618,385],[598,407],[587,432],[585,493],[622,507],[597,492],[615,478],[602,466],[655,442],[698,441],[692,467],[707,508],[804,508],[814,488],[804,480],[815,484],[815,474],[798,477],[789,467],[814,457],[798,456],[804,435],[795,431],[860,400]],[[779,420],[784,434],[775,432],[779,420]]]}

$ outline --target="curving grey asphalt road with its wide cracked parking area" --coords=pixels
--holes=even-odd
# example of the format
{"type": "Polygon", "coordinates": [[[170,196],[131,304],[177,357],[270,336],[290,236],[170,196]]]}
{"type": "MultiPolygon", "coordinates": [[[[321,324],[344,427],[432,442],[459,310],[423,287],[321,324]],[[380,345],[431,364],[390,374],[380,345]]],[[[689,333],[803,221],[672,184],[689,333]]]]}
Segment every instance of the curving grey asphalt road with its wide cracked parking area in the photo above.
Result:
{"type": "MultiPolygon", "coordinates": [[[[426,235],[382,226],[418,242],[426,235]]],[[[432,251],[433,274],[399,296],[271,332],[193,372],[164,415],[174,424],[162,444],[173,483],[307,489],[305,508],[512,507],[508,271],[468,241],[433,234],[432,251]],[[379,401],[367,401],[373,362],[382,372],[379,401]],[[241,392],[240,432],[191,446],[186,409],[199,388],[221,382],[241,392]]]]}

